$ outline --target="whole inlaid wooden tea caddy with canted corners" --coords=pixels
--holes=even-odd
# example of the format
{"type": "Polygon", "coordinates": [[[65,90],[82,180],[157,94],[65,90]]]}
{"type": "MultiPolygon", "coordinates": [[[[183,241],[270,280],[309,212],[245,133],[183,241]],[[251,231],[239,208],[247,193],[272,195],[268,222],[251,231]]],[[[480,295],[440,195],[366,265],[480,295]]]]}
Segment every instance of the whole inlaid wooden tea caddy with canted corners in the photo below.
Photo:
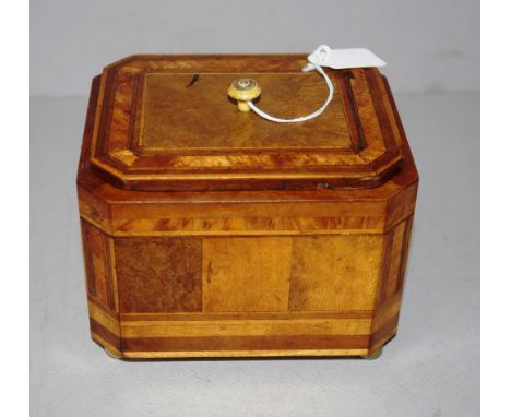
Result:
{"type": "Polygon", "coordinates": [[[118,358],[375,356],[418,175],[384,76],[304,55],[133,56],[93,80],[78,194],[92,337],[118,358]]]}

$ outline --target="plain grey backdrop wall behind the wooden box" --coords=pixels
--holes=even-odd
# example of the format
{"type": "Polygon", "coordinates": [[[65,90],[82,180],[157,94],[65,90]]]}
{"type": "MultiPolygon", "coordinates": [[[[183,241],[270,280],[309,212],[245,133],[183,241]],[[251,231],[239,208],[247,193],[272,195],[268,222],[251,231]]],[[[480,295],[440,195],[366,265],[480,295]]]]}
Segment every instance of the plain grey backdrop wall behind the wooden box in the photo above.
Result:
{"type": "Polygon", "coordinates": [[[132,53],[366,47],[394,91],[479,90],[478,0],[32,0],[31,91],[86,95],[132,53]]]}

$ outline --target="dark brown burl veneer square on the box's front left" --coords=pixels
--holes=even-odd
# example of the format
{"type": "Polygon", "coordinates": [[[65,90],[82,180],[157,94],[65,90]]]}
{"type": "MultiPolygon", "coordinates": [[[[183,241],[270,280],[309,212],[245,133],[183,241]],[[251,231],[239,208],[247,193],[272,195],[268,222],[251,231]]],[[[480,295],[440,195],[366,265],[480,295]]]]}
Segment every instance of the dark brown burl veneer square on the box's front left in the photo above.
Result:
{"type": "Polygon", "coordinates": [[[115,240],[121,312],[200,311],[201,240],[115,240]]]}

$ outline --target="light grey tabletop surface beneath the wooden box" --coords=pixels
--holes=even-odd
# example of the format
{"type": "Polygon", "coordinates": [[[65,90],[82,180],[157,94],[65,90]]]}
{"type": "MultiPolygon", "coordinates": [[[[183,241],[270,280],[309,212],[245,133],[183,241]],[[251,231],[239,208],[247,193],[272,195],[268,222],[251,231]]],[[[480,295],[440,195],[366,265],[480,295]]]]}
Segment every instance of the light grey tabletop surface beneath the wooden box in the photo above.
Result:
{"type": "Polygon", "coordinates": [[[479,97],[396,99],[421,182],[400,332],[380,359],[123,362],[88,336],[74,189],[86,98],[34,98],[32,415],[477,416],[479,97]]]}

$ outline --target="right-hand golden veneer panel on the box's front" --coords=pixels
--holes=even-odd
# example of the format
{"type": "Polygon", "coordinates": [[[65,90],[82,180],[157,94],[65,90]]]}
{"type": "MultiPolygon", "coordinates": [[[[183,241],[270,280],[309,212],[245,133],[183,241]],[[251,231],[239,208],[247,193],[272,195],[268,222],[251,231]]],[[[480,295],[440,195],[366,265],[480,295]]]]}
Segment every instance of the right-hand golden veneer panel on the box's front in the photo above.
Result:
{"type": "Polygon", "coordinates": [[[378,235],[295,238],[289,309],[372,309],[381,251],[378,235]]]}

